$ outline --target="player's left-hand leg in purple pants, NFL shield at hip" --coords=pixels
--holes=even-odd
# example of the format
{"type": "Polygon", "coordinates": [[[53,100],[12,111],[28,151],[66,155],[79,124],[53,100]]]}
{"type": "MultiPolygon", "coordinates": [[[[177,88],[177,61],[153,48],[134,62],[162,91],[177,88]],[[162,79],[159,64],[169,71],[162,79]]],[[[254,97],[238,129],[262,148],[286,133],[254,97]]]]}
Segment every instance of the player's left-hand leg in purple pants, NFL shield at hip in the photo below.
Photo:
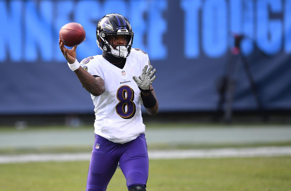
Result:
{"type": "Polygon", "coordinates": [[[91,155],[86,191],[105,191],[110,179],[116,171],[118,159],[115,152],[110,152],[113,143],[99,135],[95,135],[91,155]]]}

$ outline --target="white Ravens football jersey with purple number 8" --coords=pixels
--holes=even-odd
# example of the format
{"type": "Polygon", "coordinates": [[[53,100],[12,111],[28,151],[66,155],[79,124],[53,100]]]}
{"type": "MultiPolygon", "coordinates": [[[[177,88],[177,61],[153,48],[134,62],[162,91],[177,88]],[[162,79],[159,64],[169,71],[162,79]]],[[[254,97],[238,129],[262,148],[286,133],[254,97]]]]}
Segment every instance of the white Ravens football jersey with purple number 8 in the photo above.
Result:
{"type": "Polygon", "coordinates": [[[140,90],[132,79],[140,76],[149,65],[148,54],[132,48],[123,69],[102,55],[83,59],[81,66],[91,75],[100,76],[105,82],[105,92],[100,96],[91,94],[95,111],[95,133],[115,143],[127,143],[145,132],[141,116],[140,90]]]}

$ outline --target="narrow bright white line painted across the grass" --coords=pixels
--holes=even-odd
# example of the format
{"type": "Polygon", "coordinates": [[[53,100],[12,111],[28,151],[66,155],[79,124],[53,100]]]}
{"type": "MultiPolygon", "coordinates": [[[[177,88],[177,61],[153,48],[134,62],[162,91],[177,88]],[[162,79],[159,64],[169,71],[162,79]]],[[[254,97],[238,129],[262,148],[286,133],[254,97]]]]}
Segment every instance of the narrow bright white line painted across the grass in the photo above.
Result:
{"type": "MultiPolygon", "coordinates": [[[[291,156],[291,146],[148,151],[150,159],[291,156]]],[[[89,161],[91,153],[0,155],[0,163],[89,161]]]]}

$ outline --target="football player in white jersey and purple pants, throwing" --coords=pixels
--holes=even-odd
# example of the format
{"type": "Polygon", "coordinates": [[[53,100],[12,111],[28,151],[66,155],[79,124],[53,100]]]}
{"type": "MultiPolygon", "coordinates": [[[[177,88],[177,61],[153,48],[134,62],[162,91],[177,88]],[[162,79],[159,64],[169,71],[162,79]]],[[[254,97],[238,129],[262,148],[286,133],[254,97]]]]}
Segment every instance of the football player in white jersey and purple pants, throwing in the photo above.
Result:
{"type": "Polygon", "coordinates": [[[104,191],[118,162],[129,191],[146,190],[148,152],[141,105],[148,114],[158,112],[159,103],[151,83],[155,69],[148,54],[132,48],[133,31],[120,14],[105,15],[97,24],[97,45],[102,55],[89,56],[79,63],[76,48],[61,52],[94,103],[95,141],[86,190],[104,191]]]}

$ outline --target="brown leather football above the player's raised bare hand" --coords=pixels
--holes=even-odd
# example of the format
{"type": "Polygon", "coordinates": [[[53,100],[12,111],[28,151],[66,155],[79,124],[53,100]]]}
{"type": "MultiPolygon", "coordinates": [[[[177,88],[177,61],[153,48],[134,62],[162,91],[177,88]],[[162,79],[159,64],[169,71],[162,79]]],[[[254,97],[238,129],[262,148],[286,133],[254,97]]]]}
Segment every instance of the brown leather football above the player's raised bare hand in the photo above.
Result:
{"type": "Polygon", "coordinates": [[[81,44],[86,33],[79,23],[67,23],[61,28],[59,36],[64,45],[72,47],[81,44]]]}

